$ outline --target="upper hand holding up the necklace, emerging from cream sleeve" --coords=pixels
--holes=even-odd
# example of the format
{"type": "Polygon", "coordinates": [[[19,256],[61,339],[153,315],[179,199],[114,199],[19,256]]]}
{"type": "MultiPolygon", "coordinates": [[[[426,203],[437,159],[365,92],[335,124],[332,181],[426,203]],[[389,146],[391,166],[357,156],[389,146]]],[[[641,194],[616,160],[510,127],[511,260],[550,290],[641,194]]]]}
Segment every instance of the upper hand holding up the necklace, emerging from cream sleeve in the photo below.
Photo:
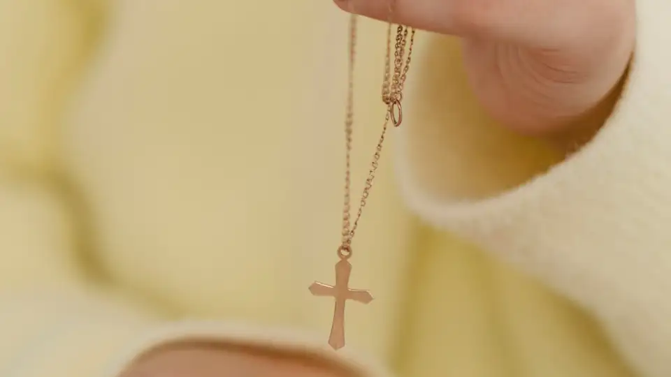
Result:
{"type": "Polygon", "coordinates": [[[387,20],[389,1],[394,22],[461,37],[475,95],[521,133],[556,133],[612,106],[635,42],[635,0],[335,3],[387,20]]]}

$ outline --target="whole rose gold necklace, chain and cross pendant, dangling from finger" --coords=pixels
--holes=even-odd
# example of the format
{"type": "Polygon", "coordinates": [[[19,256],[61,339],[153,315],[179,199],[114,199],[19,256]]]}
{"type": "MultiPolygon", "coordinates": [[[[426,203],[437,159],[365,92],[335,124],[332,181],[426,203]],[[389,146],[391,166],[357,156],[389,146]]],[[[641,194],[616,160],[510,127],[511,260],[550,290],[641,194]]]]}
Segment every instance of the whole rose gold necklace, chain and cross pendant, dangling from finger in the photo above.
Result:
{"type": "Polygon", "coordinates": [[[370,189],[373,188],[375,172],[380,161],[384,136],[387,134],[389,121],[394,126],[401,126],[403,121],[403,84],[407,71],[410,68],[410,59],[412,57],[412,45],[414,44],[415,30],[413,28],[398,25],[396,29],[396,44],[394,45],[394,67],[391,67],[391,13],[394,0],[389,1],[389,24],[387,27],[387,55],[384,59],[384,81],[382,83],[382,101],[387,105],[387,114],[382,124],[382,134],[377,142],[373,161],[370,163],[368,178],[363,186],[363,193],[359,201],[359,209],[356,217],[352,221],[350,214],[350,181],[351,181],[351,152],[352,152],[352,125],[354,124],[354,58],[356,57],[356,15],[349,18],[349,72],[347,87],[347,107],[345,110],[345,202],[342,209],[342,239],[338,247],[338,258],[340,261],[335,264],[335,285],[329,286],[315,281],[310,286],[310,292],[315,296],[331,296],[335,298],[335,311],[333,313],[333,325],[331,326],[331,335],[329,345],[338,350],[345,346],[345,302],[354,300],[363,304],[373,301],[373,295],[368,290],[350,289],[349,275],[352,273],[352,265],[349,258],[352,258],[352,239],[356,229],[359,227],[359,220],[363,214],[363,208],[366,207],[370,189]],[[410,34],[410,36],[408,35],[410,34]],[[410,44],[408,43],[410,38],[410,44]],[[407,48],[407,56],[405,49],[407,48]],[[405,57],[405,64],[404,64],[405,57]],[[393,71],[393,72],[392,72],[393,71]]]}

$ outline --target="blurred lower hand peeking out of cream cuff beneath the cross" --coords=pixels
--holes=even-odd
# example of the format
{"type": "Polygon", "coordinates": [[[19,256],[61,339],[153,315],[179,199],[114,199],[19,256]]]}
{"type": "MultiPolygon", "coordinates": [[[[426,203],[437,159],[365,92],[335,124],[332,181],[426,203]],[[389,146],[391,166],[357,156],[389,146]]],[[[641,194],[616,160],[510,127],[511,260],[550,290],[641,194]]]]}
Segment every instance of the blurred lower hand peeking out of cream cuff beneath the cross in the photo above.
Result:
{"type": "Polygon", "coordinates": [[[185,342],[140,357],[120,377],[347,377],[338,367],[308,355],[226,344],[185,342]]]}

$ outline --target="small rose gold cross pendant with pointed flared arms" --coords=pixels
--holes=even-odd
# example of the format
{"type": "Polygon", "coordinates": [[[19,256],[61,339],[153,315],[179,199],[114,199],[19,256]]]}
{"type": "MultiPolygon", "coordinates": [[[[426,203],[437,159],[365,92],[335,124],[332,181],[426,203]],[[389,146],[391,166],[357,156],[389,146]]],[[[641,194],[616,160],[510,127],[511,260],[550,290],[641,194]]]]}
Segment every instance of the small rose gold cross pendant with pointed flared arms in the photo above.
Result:
{"type": "Polygon", "coordinates": [[[342,259],[335,264],[335,286],[327,286],[318,281],[310,286],[312,295],[335,298],[335,312],[329,337],[329,345],[335,350],[345,346],[345,302],[354,300],[368,304],[373,301],[373,296],[368,293],[368,290],[349,289],[349,274],[351,273],[352,265],[346,259],[342,259]]]}

